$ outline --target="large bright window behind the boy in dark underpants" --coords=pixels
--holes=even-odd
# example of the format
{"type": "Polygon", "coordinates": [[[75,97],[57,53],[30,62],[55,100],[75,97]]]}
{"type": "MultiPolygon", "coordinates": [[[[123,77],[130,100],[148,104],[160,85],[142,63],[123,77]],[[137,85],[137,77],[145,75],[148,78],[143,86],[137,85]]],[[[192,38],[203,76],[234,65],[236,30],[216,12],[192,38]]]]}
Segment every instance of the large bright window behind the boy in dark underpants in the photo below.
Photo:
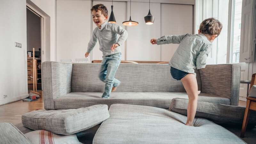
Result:
{"type": "Polygon", "coordinates": [[[218,19],[223,25],[220,35],[212,43],[207,64],[239,62],[241,15],[242,0],[196,0],[196,30],[202,20],[210,17],[218,19]]]}

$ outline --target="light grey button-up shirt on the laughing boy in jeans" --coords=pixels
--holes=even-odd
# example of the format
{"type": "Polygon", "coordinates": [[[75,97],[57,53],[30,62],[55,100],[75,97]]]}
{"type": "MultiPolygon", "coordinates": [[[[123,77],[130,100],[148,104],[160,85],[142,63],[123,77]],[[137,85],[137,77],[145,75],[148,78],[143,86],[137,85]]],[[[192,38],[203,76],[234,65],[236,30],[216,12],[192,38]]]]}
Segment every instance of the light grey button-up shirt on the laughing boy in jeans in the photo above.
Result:
{"type": "Polygon", "coordinates": [[[101,28],[97,27],[93,30],[92,37],[88,43],[87,52],[92,52],[92,49],[97,43],[98,39],[100,44],[100,51],[102,51],[103,56],[121,53],[120,45],[124,43],[127,37],[128,32],[124,28],[113,23],[108,23],[106,21],[101,24],[101,28]],[[120,35],[118,39],[117,34],[120,35]],[[114,52],[112,52],[111,46],[116,43],[119,44],[119,46],[116,47],[114,52]]]}

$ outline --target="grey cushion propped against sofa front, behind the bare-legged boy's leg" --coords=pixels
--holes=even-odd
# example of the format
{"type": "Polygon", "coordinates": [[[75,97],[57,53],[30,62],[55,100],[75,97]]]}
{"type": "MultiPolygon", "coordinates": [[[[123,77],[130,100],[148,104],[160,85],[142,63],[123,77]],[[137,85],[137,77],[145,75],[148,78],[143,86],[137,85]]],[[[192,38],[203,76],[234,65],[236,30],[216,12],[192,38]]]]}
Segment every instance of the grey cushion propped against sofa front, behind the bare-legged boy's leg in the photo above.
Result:
{"type": "MultiPolygon", "coordinates": [[[[169,110],[187,115],[187,106],[187,99],[173,99],[169,110]]],[[[198,101],[196,117],[206,118],[216,124],[242,124],[244,111],[244,107],[198,101]]],[[[256,111],[251,111],[248,124],[256,125],[256,111]]]]}

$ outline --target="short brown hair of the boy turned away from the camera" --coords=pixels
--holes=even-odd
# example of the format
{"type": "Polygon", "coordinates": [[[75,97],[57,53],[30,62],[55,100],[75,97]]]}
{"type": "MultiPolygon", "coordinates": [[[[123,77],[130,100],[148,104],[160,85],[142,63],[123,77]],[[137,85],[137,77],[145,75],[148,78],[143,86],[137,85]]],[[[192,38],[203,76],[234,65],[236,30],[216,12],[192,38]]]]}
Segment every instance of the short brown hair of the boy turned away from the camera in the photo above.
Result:
{"type": "Polygon", "coordinates": [[[199,30],[202,34],[208,34],[210,36],[212,35],[220,35],[220,31],[222,29],[222,24],[219,20],[216,20],[214,18],[208,18],[205,19],[199,27],[199,30]]]}

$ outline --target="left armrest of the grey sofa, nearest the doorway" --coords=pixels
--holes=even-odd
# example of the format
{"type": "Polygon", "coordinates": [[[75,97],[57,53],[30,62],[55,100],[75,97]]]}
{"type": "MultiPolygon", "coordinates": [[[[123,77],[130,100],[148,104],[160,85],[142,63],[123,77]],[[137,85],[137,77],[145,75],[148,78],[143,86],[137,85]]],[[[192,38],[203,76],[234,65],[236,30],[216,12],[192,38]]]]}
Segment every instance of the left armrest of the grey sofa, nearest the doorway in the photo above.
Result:
{"type": "Polygon", "coordinates": [[[71,92],[72,64],[53,61],[42,63],[44,108],[54,109],[54,99],[71,92]]]}

